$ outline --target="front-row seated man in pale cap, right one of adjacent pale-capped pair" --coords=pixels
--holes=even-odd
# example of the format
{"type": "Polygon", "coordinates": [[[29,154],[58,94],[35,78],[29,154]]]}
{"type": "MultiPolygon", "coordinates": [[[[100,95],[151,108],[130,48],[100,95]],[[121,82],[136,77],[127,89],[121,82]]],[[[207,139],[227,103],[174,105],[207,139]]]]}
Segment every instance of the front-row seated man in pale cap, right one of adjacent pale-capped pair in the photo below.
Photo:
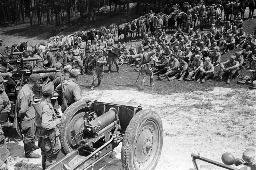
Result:
{"type": "Polygon", "coordinates": [[[203,66],[199,67],[200,74],[196,82],[204,83],[207,79],[211,79],[214,76],[214,67],[211,64],[211,59],[207,57],[203,66]]]}

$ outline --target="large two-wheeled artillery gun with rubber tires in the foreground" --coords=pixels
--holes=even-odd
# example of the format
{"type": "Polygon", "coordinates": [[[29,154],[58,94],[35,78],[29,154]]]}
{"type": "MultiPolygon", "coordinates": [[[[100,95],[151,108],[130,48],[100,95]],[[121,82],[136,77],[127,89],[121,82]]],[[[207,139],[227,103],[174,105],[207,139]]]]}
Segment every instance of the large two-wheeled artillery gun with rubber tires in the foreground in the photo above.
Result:
{"type": "Polygon", "coordinates": [[[61,151],[66,156],[48,170],[88,169],[120,142],[124,169],[153,170],[162,151],[161,118],[134,101],[75,102],[63,113],[59,129],[61,151]]]}

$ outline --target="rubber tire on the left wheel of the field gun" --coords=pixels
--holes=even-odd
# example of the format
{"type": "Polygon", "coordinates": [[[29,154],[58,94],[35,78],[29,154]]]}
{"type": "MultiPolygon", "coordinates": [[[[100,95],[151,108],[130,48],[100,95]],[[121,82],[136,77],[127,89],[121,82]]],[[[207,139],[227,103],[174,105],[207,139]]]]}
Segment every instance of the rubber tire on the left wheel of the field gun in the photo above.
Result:
{"type": "MultiPolygon", "coordinates": [[[[72,118],[76,116],[77,114],[81,114],[80,110],[86,109],[87,107],[86,101],[81,100],[78,102],[75,102],[71,104],[63,113],[61,117],[61,122],[59,125],[59,130],[60,130],[60,144],[61,144],[61,152],[64,155],[67,155],[69,152],[75,150],[76,148],[71,148],[71,146],[68,144],[67,136],[68,136],[68,124],[71,122],[72,118]]],[[[87,110],[85,110],[87,111],[87,110]]],[[[84,118],[83,118],[83,123],[84,123],[84,118]]]]}

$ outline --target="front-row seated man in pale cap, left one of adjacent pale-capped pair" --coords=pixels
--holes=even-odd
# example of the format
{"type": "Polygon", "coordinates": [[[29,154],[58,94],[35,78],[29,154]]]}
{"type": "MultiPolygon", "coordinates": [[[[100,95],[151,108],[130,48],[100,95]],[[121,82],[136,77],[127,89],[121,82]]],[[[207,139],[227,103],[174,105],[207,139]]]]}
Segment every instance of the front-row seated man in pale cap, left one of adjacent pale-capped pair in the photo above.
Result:
{"type": "Polygon", "coordinates": [[[203,66],[203,61],[200,60],[200,55],[196,54],[194,61],[192,62],[192,69],[194,71],[190,71],[187,78],[183,78],[184,81],[193,81],[200,74],[199,67],[203,66]],[[193,77],[192,77],[193,76],[193,77]]]}

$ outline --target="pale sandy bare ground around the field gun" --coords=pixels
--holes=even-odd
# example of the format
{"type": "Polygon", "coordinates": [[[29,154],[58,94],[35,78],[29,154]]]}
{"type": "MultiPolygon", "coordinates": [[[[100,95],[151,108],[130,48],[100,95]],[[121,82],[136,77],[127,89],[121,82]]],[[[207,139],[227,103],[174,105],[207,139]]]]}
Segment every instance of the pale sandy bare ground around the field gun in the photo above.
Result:
{"type": "MultiPolygon", "coordinates": [[[[256,148],[255,90],[214,88],[173,95],[151,95],[133,90],[84,92],[83,99],[115,100],[146,104],[161,117],[164,131],[163,150],[156,170],[193,167],[191,153],[221,162],[224,152],[242,158],[248,147],[256,148]]],[[[8,138],[10,169],[41,168],[41,158],[26,159],[20,140],[8,138]]],[[[122,170],[120,144],[101,160],[95,170],[122,170]]],[[[37,150],[40,154],[40,150],[37,150]]],[[[63,155],[60,154],[58,159],[63,155]]]]}

